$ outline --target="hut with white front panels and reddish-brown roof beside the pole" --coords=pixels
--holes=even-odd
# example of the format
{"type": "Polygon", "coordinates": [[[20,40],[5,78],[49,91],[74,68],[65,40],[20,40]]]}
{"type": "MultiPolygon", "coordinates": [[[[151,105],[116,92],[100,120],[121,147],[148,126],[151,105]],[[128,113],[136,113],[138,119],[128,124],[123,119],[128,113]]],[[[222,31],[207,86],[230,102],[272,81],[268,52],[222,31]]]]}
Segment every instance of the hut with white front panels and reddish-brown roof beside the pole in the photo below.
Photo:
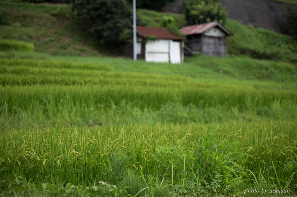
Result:
{"type": "MultiPolygon", "coordinates": [[[[146,62],[184,62],[184,40],[162,28],[136,27],[137,59],[146,62]]],[[[133,45],[126,43],[126,57],[133,58],[133,45]]]]}

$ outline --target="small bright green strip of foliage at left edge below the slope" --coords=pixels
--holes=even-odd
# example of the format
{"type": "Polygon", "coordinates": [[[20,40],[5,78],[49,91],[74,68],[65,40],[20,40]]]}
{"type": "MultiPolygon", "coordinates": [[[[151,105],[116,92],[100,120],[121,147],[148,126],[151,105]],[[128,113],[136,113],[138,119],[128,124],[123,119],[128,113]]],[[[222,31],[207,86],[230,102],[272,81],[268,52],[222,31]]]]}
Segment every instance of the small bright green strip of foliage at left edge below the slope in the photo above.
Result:
{"type": "Polygon", "coordinates": [[[32,52],[34,45],[23,41],[0,40],[0,51],[25,51],[32,52]]]}

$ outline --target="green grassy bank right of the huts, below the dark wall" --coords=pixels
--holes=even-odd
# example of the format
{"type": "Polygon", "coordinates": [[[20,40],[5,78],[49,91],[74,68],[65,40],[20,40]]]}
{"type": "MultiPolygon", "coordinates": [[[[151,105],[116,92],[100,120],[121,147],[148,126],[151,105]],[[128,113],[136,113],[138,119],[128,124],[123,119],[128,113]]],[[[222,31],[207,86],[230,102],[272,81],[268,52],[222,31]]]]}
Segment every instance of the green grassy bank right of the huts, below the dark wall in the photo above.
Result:
{"type": "Polygon", "coordinates": [[[228,37],[229,54],[246,54],[255,59],[292,62],[297,64],[297,41],[262,28],[246,27],[227,20],[226,27],[234,33],[228,37]]]}

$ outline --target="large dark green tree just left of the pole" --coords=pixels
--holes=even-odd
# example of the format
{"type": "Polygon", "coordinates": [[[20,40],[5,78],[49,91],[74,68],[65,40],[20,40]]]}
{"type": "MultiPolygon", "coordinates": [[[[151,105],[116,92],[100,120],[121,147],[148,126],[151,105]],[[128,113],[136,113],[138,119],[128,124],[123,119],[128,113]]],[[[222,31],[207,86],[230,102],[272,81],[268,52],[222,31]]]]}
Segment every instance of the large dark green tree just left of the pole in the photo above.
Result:
{"type": "Polygon", "coordinates": [[[75,19],[93,33],[101,46],[118,46],[132,27],[132,7],[125,0],[70,0],[75,19]]]}

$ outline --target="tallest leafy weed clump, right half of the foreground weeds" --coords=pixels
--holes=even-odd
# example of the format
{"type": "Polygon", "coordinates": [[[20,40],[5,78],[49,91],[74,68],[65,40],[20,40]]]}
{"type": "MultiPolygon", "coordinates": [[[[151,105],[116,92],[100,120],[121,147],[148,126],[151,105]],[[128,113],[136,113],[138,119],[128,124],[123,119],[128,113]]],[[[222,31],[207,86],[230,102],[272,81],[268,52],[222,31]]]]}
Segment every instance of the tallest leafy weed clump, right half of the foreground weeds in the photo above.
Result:
{"type": "Polygon", "coordinates": [[[216,183],[217,189],[228,193],[229,190],[236,191],[243,183],[244,154],[239,145],[239,142],[234,142],[231,147],[228,141],[217,143],[214,136],[203,136],[202,144],[196,146],[198,158],[195,160],[195,173],[203,178],[202,183],[206,188],[216,183]]]}

